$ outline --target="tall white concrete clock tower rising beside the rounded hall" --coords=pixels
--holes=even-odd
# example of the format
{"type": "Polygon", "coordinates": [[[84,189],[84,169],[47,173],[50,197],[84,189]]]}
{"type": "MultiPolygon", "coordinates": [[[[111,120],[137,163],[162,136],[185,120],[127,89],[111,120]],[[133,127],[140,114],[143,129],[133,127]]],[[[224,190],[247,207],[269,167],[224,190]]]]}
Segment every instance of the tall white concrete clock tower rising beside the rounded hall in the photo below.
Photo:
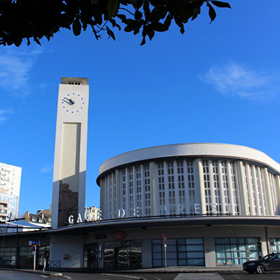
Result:
{"type": "Polygon", "coordinates": [[[62,78],[57,102],[52,228],[64,226],[85,212],[87,160],[87,78],[62,78]]]}

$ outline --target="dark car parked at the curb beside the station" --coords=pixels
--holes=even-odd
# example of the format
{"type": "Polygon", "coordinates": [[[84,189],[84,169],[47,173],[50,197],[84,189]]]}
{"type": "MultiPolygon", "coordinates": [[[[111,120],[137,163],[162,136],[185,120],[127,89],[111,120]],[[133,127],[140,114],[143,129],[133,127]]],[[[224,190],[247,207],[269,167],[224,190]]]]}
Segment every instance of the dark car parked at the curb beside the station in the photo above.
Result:
{"type": "Polygon", "coordinates": [[[243,270],[249,273],[263,273],[265,271],[280,270],[280,253],[270,253],[260,260],[244,262],[243,270]]]}

